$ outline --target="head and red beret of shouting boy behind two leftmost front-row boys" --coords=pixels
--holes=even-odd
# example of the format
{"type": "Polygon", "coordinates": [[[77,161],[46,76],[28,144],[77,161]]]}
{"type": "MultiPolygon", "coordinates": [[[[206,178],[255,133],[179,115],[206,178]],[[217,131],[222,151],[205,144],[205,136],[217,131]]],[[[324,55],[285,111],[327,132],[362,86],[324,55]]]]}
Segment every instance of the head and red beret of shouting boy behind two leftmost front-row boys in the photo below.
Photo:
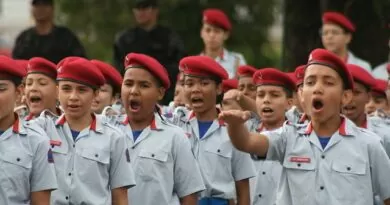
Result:
{"type": "Polygon", "coordinates": [[[29,114],[25,120],[29,121],[47,110],[55,116],[61,115],[57,108],[57,68],[56,65],[44,58],[31,58],[27,64],[25,80],[25,95],[29,114]]]}

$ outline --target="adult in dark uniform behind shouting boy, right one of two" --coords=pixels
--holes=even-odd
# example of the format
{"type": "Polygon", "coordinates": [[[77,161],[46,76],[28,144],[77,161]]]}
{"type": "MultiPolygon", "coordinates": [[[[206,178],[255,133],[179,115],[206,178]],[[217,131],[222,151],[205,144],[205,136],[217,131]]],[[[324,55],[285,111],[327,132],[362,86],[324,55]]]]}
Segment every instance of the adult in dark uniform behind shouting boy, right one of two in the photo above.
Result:
{"type": "MultiPolygon", "coordinates": [[[[169,80],[176,84],[179,60],[185,56],[181,38],[170,28],[157,22],[157,0],[135,0],[133,13],[137,25],[120,33],[114,43],[114,64],[123,75],[123,62],[128,53],[142,53],[158,60],[168,71],[169,80]]],[[[167,90],[161,104],[173,99],[174,87],[167,90]]]]}

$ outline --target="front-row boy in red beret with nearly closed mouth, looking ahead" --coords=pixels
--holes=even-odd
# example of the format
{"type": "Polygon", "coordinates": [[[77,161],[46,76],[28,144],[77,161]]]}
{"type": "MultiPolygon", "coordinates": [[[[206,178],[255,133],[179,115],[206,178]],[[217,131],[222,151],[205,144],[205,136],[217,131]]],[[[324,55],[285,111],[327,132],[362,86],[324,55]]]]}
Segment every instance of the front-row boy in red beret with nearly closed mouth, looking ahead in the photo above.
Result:
{"type": "Polygon", "coordinates": [[[51,203],[125,205],[127,189],[135,185],[125,136],[91,113],[103,74],[84,58],[65,58],[57,66],[64,113],[32,121],[44,128],[53,147],[58,189],[51,203]]]}

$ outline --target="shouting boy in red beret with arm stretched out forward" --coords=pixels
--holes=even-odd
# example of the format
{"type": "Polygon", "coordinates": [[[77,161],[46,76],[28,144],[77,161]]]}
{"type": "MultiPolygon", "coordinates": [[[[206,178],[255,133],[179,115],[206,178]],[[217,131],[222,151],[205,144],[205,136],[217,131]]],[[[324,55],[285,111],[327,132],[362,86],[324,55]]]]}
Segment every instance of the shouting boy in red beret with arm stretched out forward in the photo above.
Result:
{"type": "Polygon", "coordinates": [[[286,123],[262,134],[244,125],[249,113],[224,111],[232,143],[283,165],[276,204],[373,204],[374,192],[390,204],[390,160],[378,136],[340,115],[352,99],[353,79],[344,62],[324,49],[311,52],[302,96],[307,126],[286,123]]]}

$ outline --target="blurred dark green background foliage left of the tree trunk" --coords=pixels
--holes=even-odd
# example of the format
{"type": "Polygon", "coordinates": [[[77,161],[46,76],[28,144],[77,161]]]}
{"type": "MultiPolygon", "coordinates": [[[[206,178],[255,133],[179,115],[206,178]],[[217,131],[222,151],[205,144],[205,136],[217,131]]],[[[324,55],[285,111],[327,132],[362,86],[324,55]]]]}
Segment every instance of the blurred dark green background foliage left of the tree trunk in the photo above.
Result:
{"type": "MultiPolygon", "coordinates": [[[[75,31],[90,58],[112,59],[115,35],[135,26],[132,0],[56,0],[58,21],[75,31]]],[[[276,66],[278,53],[267,41],[277,0],[161,0],[160,23],[176,30],[189,54],[202,50],[200,39],[202,11],[224,10],[233,23],[226,47],[242,52],[255,66],[276,66]]]]}

